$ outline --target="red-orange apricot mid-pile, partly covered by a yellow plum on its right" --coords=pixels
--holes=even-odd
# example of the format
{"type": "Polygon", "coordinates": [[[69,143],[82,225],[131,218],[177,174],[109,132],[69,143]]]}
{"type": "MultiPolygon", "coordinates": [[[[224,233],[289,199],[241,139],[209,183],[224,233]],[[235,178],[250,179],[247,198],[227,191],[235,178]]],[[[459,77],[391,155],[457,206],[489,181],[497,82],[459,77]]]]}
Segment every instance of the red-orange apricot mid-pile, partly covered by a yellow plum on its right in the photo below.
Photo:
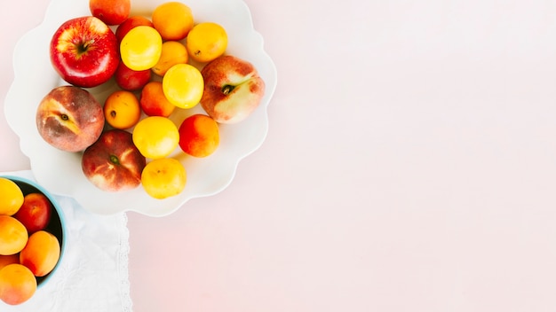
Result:
{"type": "Polygon", "coordinates": [[[164,96],[163,82],[148,82],[141,90],[139,105],[147,116],[169,117],[176,108],[164,96]]]}

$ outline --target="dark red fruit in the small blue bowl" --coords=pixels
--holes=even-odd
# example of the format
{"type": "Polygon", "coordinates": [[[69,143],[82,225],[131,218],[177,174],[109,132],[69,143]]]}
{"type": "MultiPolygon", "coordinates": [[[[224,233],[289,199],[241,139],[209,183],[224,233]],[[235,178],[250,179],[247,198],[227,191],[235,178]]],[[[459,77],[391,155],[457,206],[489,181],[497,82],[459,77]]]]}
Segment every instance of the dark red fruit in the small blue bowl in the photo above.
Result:
{"type": "Polygon", "coordinates": [[[13,217],[18,219],[28,231],[44,230],[51,220],[52,204],[43,193],[28,193],[23,198],[23,205],[13,217]]]}

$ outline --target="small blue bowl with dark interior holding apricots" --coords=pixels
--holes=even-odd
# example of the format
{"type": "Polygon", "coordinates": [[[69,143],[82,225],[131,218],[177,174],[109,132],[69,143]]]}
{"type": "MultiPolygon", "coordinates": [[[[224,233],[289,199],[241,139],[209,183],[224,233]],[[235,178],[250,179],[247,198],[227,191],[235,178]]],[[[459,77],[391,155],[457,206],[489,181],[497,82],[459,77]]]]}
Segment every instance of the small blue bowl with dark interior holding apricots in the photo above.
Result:
{"type": "Polygon", "coordinates": [[[0,176],[12,180],[14,183],[18,184],[24,196],[29,193],[36,193],[36,192],[43,193],[44,196],[46,196],[46,198],[52,204],[53,209],[52,209],[51,220],[44,230],[52,233],[56,238],[58,238],[58,241],[60,242],[60,259],[58,260],[58,263],[56,263],[56,266],[54,267],[54,269],[52,269],[50,273],[48,273],[44,277],[36,277],[36,284],[38,287],[41,287],[42,285],[46,284],[46,282],[50,279],[50,277],[52,277],[56,269],[60,267],[60,263],[65,253],[66,243],[64,238],[66,237],[66,225],[65,225],[64,212],[62,211],[62,208],[60,207],[56,199],[52,196],[52,194],[46,191],[44,187],[42,187],[41,185],[31,180],[28,180],[26,178],[22,178],[20,176],[13,176],[13,175],[0,175],[0,176]]]}

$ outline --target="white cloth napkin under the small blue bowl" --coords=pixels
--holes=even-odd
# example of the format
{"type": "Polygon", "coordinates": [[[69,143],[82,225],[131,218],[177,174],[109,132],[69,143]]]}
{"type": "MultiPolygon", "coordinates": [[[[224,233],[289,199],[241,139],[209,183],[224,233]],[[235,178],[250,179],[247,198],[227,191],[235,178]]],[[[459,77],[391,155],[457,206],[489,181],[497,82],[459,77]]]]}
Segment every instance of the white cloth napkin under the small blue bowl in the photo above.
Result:
{"type": "MultiPolygon", "coordinates": [[[[30,170],[4,172],[35,181],[30,170]]],[[[68,197],[53,195],[64,211],[66,251],[60,267],[28,301],[0,311],[131,312],[127,215],[98,215],[68,197]]]]}

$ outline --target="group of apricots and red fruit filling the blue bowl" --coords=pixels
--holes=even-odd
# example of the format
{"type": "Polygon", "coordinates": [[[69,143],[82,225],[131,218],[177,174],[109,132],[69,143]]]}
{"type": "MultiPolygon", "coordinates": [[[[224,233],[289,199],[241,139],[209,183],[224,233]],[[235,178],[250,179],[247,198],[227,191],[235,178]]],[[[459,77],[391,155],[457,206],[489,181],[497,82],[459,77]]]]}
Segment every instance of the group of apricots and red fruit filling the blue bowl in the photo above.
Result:
{"type": "Polygon", "coordinates": [[[60,240],[50,230],[54,208],[43,193],[0,177],[0,194],[0,300],[18,305],[60,260],[60,240]]]}

